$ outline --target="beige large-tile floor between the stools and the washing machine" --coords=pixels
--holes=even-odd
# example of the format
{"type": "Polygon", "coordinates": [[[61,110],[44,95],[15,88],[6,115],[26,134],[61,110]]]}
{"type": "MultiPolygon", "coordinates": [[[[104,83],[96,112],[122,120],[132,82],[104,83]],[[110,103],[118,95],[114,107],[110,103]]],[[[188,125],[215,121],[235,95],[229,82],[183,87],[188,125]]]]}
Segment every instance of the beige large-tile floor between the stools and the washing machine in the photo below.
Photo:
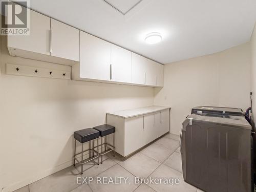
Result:
{"type": "Polygon", "coordinates": [[[129,158],[108,154],[103,157],[102,164],[88,163],[84,166],[83,175],[79,173],[80,166],[71,166],[15,192],[201,192],[183,181],[179,136],[173,134],[163,136],[129,158]],[[77,177],[93,177],[93,181],[90,184],[77,184],[77,177]],[[97,178],[104,177],[125,177],[127,181],[126,184],[124,180],[120,184],[96,183],[97,178]],[[136,177],[141,179],[140,183],[135,183],[136,177]],[[179,178],[180,184],[151,184],[143,180],[145,178],[179,178]]]}

